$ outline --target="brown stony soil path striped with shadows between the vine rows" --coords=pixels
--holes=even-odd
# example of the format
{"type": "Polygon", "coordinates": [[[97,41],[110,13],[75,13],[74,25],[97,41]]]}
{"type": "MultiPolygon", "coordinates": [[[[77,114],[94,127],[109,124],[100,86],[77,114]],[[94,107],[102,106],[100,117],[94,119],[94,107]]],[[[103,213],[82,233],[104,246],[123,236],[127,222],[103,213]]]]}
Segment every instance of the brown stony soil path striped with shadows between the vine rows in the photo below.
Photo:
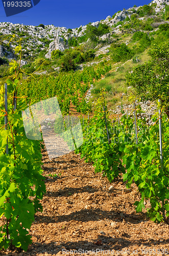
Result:
{"type": "Polygon", "coordinates": [[[134,183],[109,183],[74,152],[49,160],[44,146],[42,155],[46,194],[30,229],[33,243],[4,255],[169,255],[168,225],[136,213],[134,183]]]}

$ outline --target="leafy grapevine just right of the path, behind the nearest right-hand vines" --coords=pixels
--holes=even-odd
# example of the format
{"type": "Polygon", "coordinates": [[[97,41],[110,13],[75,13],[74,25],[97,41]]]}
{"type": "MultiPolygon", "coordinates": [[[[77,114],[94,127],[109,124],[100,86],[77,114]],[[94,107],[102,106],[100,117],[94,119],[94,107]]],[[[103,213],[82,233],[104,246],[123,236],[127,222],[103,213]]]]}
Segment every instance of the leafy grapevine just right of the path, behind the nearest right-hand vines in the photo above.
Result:
{"type": "Polygon", "coordinates": [[[82,126],[85,138],[83,144],[75,152],[81,153],[81,158],[85,157],[86,162],[94,162],[95,173],[102,173],[111,182],[119,175],[120,169],[121,172],[125,172],[125,169],[120,162],[120,143],[108,144],[104,115],[106,115],[108,130],[110,130],[110,119],[106,105],[105,113],[103,111],[104,104],[106,103],[103,98],[99,98],[95,103],[93,118],[89,121],[86,119],[82,126]]]}

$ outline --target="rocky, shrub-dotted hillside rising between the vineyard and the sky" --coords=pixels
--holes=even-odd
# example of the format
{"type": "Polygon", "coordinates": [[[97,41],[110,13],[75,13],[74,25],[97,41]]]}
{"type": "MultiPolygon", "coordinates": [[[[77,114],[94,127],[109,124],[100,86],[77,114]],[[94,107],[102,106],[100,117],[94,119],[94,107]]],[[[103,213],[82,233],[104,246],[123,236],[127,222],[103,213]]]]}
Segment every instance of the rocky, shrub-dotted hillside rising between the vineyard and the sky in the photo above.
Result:
{"type": "MultiPolygon", "coordinates": [[[[1,23],[1,81],[4,83],[7,78],[13,77],[13,74],[9,73],[8,66],[11,57],[18,60],[17,54],[14,56],[13,53],[16,45],[13,45],[11,40],[11,35],[16,35],[21,40],[21,71],[23,84],[26,87],[26,84],[34,84],[35,78],[38,78],[38,83],[43,88],[43,77],[50,76],[57,80],[60,77],[63,80],[65,72],[76,74],[76,72],[83,72],[80,70],[86,66],[92,65],[93,69],[97,70],[100,65],[107,67],[111,65],[111,71],[104,79],[98,82],[94,80],[95,83],[90,81],[90,83],[94,83],[92,101],[97,99],[100,88],[105,88],[108,108],[114,109],[116,105],[126,102],[127,97],[124,96],[131,92],[126,87],[126,73],[132,72],[134,67],[150,58],[148,49],[152,45],[160,46],[168,38],[169,7],[164,4],[165,2],[157,6],[152,2],[150,5],[134,6],[128,10],[119,11],[112,17],[108,16],[100,22],[76,29],[43,24],[34,27],[1,23]],[[58,44],[58,49],[52,50],[53,40],[55,45],[58,44]],[[62,74],[63,78],[61,78],[62,74]]],[[[86,87],[86,91],[89,87],[90,84],[86,87]]],[[[39,90],[42,88],[39,85],[39,90]]],[[[22,91],[23,89],[22,87],[22,91]]],[[[57,88],[52,90],[58,95],[57,88]]],[[[64,99],[61,100],[64,101],[64,99]]],[[[67,104],[66,101],[65,104],[67,104]]]]}

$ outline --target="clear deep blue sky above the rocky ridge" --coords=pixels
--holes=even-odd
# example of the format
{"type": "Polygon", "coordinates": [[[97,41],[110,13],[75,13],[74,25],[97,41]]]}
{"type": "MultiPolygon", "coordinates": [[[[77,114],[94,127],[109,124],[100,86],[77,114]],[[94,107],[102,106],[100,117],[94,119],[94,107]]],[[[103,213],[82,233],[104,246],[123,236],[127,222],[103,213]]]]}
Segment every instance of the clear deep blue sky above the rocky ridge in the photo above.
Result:
{"type": "Polygon", "coordinates": [[[151,0],[41,0],[39,4],[25,12],[6,17],[3,3],[0,1],[0,22],[34,26],[53,24],[58,27],[77,28],[80,25],[105,19],[108,15],[112,16],[123,8],[149,3],[151,0]]]}

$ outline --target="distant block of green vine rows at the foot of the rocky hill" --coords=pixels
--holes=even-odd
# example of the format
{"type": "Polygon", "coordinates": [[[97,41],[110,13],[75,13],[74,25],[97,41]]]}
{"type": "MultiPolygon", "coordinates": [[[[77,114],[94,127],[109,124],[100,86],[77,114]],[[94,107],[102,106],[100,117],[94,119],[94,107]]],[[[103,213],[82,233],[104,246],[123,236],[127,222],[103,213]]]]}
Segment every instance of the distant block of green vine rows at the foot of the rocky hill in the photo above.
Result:
{"type": "MultiPolygon", "coordinates": [[[[41,79],[25,81],[18,87],[18,97],[26,95],[27,103],[57,96],[63,115],[67,115],[72,103],[77,112],[85,114],[91,112],[91,104],[87,104],[85,95],[90,84],[105,75],[111,66],[100,63],[100,67],[86,67],[82,72],[65,72],[57,77],[49,76],[41,79]]],[[[47,106],[48,108],[48,106],[47,106]]]]}

